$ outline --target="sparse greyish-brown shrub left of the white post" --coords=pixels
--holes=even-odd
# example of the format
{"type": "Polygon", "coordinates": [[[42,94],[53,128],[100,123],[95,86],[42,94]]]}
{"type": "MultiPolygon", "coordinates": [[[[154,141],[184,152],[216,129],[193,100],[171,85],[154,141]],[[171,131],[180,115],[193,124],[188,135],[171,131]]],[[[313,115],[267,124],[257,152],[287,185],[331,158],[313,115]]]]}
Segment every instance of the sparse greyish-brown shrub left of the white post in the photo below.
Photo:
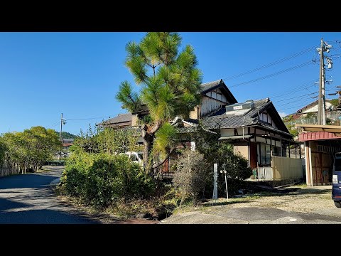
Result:
{"type": "Polygon", "coordinates": [[[192,198],[195,203],[199,200],[210,176],[209,167],[204,155],[197,151],[188,150],[180,156],[173,177],[174,186],[180,188],[180,206],[185,198],[192,198]]]}

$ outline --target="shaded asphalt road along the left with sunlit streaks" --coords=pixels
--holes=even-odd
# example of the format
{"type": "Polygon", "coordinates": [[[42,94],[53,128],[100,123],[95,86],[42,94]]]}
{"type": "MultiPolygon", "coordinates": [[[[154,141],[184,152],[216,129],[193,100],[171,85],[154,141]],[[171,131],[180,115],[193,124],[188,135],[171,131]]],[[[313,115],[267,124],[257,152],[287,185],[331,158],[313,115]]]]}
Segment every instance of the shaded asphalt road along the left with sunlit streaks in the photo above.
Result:
{"type": "Polygon", "coordinates": [[[96,224],[58,201],[50,182],[62,169],[0,178],[0,224],[96,224]]]}

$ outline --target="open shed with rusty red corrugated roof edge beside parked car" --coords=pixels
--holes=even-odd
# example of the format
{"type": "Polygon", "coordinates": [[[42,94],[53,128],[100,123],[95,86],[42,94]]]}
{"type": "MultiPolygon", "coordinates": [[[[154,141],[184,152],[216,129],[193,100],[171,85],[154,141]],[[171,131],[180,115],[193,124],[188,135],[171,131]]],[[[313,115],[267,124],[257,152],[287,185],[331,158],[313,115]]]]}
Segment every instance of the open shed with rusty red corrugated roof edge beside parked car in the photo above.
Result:
{"type": "Polygon", "coordinates": [[[341,151],[341,127],[336,125],[296,124],[303,128],[298,140],[304,142],[305,176],[308,186],[332,184],[332,164],[341,151]]]}

